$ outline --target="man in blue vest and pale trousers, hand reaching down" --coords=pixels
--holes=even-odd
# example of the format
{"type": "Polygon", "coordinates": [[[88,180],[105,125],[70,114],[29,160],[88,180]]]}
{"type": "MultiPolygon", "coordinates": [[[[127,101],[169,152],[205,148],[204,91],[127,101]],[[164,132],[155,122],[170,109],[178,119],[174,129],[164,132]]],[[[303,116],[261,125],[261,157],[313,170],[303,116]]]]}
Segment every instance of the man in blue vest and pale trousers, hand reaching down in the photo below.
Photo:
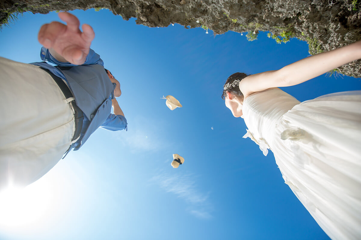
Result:
{"type": "Polygon", "coordinates": [[[41,59],[57,66],[0,57],[0,190],[38,180],[98,127],[127,130],[119,82],[90,49],[93,29],[58,15],[67,25],[44,24],[38,35],[41,59]]]}

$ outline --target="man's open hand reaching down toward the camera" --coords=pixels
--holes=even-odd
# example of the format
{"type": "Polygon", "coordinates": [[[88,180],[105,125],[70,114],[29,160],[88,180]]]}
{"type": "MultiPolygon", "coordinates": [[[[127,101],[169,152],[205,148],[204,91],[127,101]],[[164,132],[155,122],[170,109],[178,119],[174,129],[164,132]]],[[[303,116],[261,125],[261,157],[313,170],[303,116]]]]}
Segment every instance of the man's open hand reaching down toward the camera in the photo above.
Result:
{"type": "Polygon", "coordinates": [[[88,24],[83,24],[83,32],[81,32],[79,30],[80,22],[73,14],[61,12],[58,13],[58,16],[67,25],[60,22],[44,24],[40,28],[38,40],[40,44],[54,50],[67,62],[81,65],[86,60],[91,41],[95,36],[93,28],[88,24]]]}

